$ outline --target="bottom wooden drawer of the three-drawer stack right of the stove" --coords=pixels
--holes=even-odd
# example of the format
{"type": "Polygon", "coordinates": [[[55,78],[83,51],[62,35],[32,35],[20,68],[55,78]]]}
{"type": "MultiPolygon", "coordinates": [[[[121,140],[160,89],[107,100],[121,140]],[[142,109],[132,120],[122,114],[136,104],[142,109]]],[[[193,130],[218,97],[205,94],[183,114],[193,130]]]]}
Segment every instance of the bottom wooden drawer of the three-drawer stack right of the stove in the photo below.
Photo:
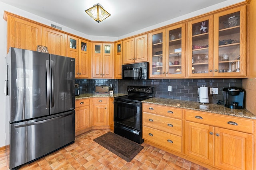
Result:
{"type": "Polygon", "coordinates": [[[147,141],[170,150],[175,150],[177,152],[182,151],[182,140],[180,136],[159,131],[157,129],[152,129],[146,126],[143,126],[142,132],[142,138],[147,141]]]}

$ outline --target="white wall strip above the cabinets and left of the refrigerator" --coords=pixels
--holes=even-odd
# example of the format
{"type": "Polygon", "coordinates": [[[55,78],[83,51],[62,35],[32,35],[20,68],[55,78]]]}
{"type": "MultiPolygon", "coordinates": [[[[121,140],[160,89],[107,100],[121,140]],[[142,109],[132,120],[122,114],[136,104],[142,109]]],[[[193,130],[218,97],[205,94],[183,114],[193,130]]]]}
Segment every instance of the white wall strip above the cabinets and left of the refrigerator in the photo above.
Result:
{"type": "Polygon", "coordinates": [[[43,23],[45,25],[50,25],[51,23],[56,24],[56,25],[62,27],[63,31],[66,31],[68,33],[72,33],[74,35],[78,35],[80,37],[84,37],[86,39],[90,39],[92,41],[117,41],[118,39],[122,39],[122,38],[125,38],[125,37],[136,35],[138,33],[143,33],[143,32],[146,32],[146,31],[150,31],[152,29],[156,29],[156,28],[162,27],[164,25],[168,25],[168,24],[180,21],[180,20],[185,20],[187,18],[191,18],[193,16],[204,14],[206,12],[210,12],[212,10],[216,10],[218,8],[222,8],[224,6],[229,6],[231,4],[236,4],[236,3],[242,2],[242,1],[244,1],[244,0],[227,0],[223,3],[217,4],[215,6],[204,8],[202,10],[193,12],[191,14],[180,16],[180,17],[175,18],[173,20],[169,20],[169,21],[166,21],[166,22],[163,22],[163,23],[159,23],[157,25],[152,25],[151,27],[147,27],[145,29],[135,31],[133,33],[123,35],[121,37],[99,37],[99,36],[86,35],[84,33],[81,33],[79,31],[76,31],[76,30],[71,29],[69,27],[65,27],[64,25],[61,25],[59,23],[55,23],[53,21],[46,20],[46,19],[44,19],[40,16],[36,16],[36,15],[31,14],[29,12],[26,12],[24,10],[20,10],[18,8],[15,8],[13,6],[10,6],[8,4],[0,2],[0,59],[2,59],[1,62],[0,62],[0,73],[2,73],[2,74],[0,74],[0,108],[2,109],[2,111],[0,112],[0,147],[3,147],[3,146],[6,145],[6,143],[5,143],[5,96],[4,96],[4,80],[6,78],[6,69],[5,69],[5,59],[4,59],[4,57],[6,56],[6,53],[7,53],[7,50],[6,50],[6,48],[7,48],[6,36],[7,35],[6,35],[6,21],[3,19],[4,11],[12,12],[14,14],[23,16],[25,18],[29,18],[29,19],[34,20],[34,21],[38,21],[38,22],[43,23]]]}

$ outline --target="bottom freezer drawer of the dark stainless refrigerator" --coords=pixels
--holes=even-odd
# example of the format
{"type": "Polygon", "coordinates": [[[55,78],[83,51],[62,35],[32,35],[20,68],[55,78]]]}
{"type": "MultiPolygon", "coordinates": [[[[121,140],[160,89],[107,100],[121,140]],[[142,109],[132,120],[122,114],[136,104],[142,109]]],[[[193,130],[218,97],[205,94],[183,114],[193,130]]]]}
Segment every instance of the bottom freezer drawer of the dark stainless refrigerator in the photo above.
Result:
{"type": "MultiPolygon", "coordinates": [[[[10,169],[75,140],[75,111],[10,124],[10,169]]],[[[8,152],[7,152],[8,153],[8,152]]]]}

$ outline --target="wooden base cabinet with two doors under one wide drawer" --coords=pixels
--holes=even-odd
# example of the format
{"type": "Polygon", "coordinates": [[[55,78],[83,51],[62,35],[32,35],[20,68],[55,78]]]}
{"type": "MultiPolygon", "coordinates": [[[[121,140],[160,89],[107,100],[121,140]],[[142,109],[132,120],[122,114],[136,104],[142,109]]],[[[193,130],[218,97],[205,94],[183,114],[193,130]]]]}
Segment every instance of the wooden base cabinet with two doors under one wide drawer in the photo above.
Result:
{"type": "Polygon", "coordinates": [[[225,170],[253,169],[253,121],[188,110],[185,119],[187,156],[225,170]]]}

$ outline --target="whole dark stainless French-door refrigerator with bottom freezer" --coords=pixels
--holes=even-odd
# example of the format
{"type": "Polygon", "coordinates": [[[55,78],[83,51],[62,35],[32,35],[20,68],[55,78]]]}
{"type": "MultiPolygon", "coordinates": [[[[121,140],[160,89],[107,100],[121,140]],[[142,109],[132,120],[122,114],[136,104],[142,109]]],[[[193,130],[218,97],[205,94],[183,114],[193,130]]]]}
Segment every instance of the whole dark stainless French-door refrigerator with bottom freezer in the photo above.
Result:
{"type": "Polygon", "coordinates": [[[9,168],[75,140],[75,59],[10,48],[6,57],[9,168]]]}

